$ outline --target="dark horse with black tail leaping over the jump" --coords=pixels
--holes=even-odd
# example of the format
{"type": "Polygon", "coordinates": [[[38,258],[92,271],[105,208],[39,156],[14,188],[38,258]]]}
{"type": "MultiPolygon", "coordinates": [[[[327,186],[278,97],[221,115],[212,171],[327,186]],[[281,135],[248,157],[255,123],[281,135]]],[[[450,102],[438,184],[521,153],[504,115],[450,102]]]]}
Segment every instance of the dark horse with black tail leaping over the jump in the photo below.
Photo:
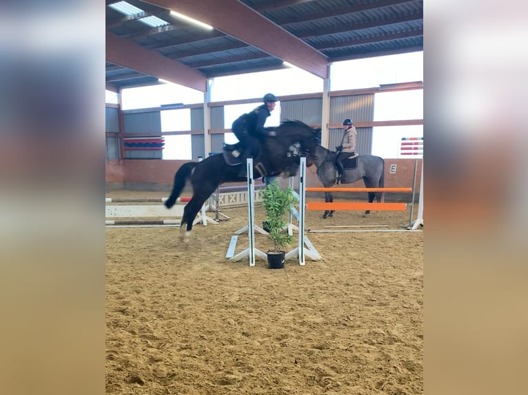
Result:
{"type": "MultiPolygon", "coordinates": [[[[300,156],[310,158],[316,150],[317,134],[314,129],[299,121],[287,121],[273,128],[276,136],[268,137],[261,145],[261,151],[253,159],[254,178],[264,175],[295,175],[300,156]]],[[[188,243],[192,231],[192,222],[201,206],[216,188],[224,182],[244,181],[238,176],[240,166],[232,164],[233,148],[223,153],[205,158],[201,162],[187,162],[174,175],[174,186],[165,206],[171,208],[176,203],[187,182],[192,186],[192,198],[183,209],[180,239],[188,243]]]]}

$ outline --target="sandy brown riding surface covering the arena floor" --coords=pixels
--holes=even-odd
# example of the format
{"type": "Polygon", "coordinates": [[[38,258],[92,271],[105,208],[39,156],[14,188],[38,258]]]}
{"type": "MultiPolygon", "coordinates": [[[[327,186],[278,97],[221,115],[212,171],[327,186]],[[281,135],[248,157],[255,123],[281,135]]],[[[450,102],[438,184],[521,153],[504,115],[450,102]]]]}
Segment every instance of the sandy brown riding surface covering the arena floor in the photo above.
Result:
{"type": "MultiPolygon", "coordinates": [[[[179,228],[107,228],[107,394],[423,393],[422,231],[307,233],[324,260],[270,270],[225,259],[247,208],[223,213],[194,226],[186,250],[179,228]]],[[[321,214],[306,228],[404,229],[410,215],[321,214]]],[[[256,247],[272,244],[257,234],[256,247]]]]}

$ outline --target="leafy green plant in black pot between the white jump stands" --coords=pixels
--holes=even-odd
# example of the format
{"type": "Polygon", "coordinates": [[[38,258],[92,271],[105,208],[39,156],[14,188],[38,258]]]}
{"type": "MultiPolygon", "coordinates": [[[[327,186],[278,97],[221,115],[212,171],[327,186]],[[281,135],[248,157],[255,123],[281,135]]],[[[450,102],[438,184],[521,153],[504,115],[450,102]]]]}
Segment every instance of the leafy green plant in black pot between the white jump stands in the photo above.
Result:
{"type": "Polygon", "coordinates": [[[267,251],[268,268],[284,267],[286,252],[281,248],[292,242],[292,236],[285,231],[285,216],[295,202],[292,191],[291,187],[282,189],[277,179],[261,190],[262,205],[266,212],[264,226],[274,246],[273,250],[267,251]]]}

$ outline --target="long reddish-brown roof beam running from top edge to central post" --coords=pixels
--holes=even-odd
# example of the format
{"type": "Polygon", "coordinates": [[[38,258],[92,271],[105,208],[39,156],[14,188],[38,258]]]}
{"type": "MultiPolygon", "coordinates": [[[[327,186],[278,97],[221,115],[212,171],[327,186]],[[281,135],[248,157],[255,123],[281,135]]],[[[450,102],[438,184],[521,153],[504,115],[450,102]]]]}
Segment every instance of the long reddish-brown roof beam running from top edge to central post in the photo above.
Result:
{"type": "Polygon", "coordinates": [[[328,58],[238,0],[148,0],[181,12],[321,78],[328,76],[328,58]]]}

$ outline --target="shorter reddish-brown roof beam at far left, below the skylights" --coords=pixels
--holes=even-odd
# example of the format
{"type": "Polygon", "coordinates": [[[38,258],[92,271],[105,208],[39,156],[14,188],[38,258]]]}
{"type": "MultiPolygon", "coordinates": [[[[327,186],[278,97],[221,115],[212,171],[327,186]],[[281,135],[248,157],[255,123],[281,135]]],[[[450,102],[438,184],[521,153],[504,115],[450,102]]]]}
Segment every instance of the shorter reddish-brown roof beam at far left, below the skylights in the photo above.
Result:
{"type": "Polygon", "coordinates": [[[207,78],[201,72],[147,50],[132,41],[106,32],[106,60],[143,74],[163,78],[185,87],[205,92],[207,78]]]}

